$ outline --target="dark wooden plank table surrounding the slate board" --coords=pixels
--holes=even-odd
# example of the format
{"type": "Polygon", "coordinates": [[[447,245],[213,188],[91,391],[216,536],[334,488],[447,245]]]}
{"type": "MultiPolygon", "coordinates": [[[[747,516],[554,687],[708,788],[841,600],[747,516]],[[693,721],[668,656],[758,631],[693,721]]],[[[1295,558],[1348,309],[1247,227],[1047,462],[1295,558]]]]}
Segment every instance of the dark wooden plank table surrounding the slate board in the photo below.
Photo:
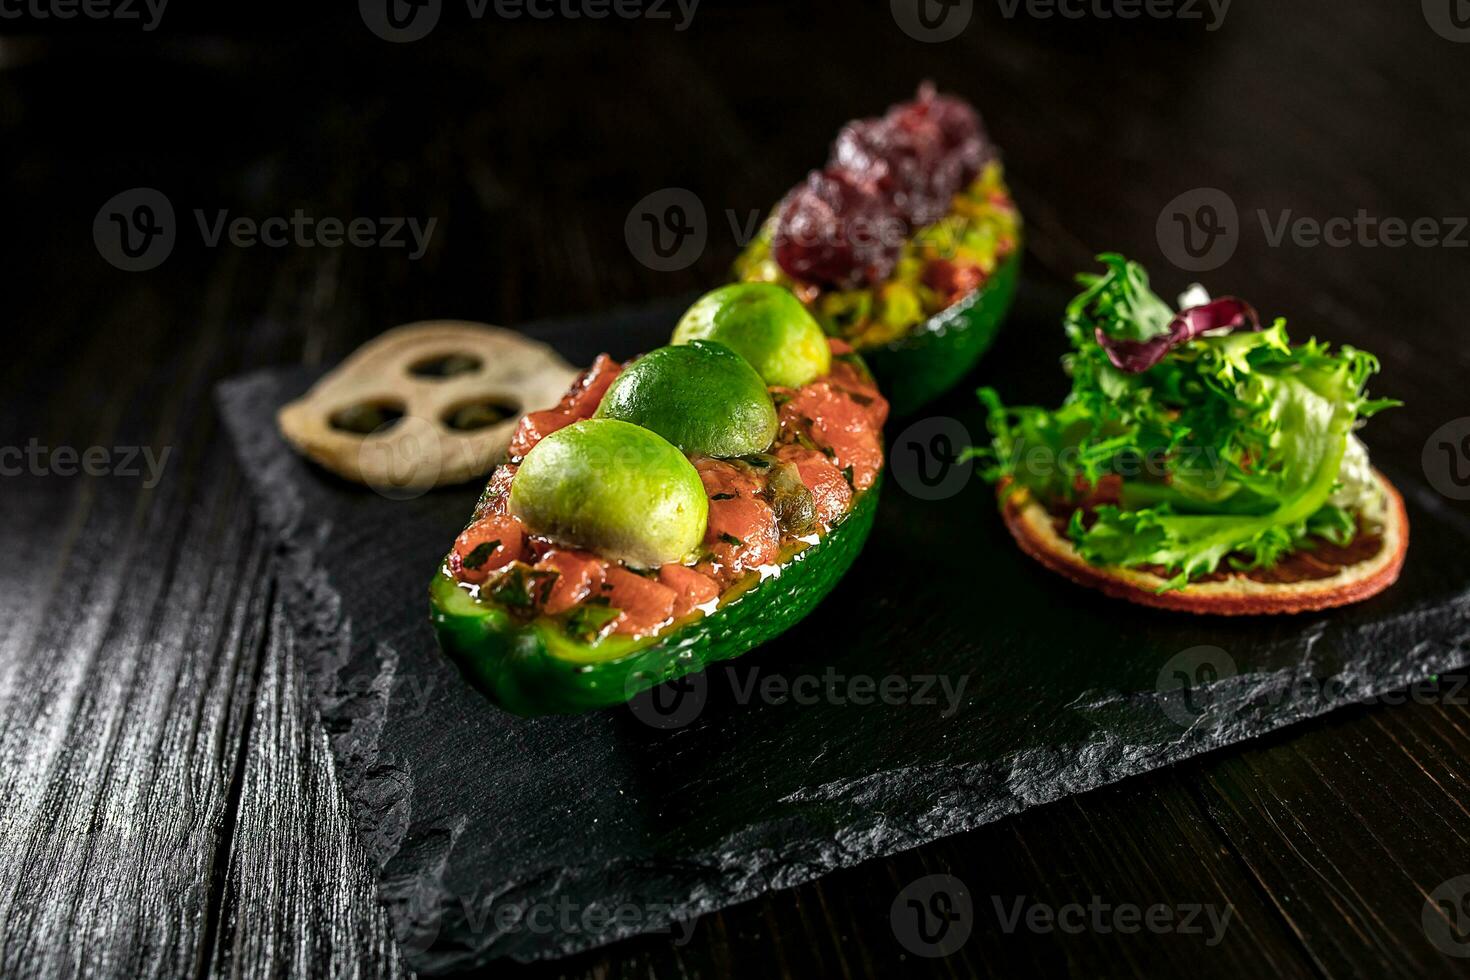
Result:
{"type": "MultiPolygon", "coordinates": [[[[0,480],[3,976],[403,971],[306,707],[218,379],[328,364],[420,317],[514,323],[707,287],[738,247],[726,213],[764,207],[845,118],[925,76],[973,98],[1005,147],[1033,273],[1119,248],[1179,288],[1192,276],[1155,222],[1176,195],[1220,188],[1242,225],[1213,282],[1377,351],[1442,420],[1470,414],[1463,238],[1273,245],[1254,217],[1363,209],[1448,234],[1466,213],[1470,46],[1416,3],[1239,0],[1214,31],[1204,6],[1204,21],[1073,21],[975,4],[936,44],[888,4],[836,22],[706,0],[676,31],[472,24],[447,3],[431,37],[390,44],[353,4],[229,22],[176,1],[150,32],[0,22],[22,31],[0,40],[0,445],[37,447],[0,480]],[[147,272],[93,241],[103,203],[135,187],[176,212],[173,251],[147,272]],[[710,215],[709,245],[678,272],[637,262],[623,235],[666,187],[710,215]],[[209,247],[196,209],[437,226],[417,260],[209,247]],[[168,453],[159,479],[131,447],[168,453]],[[96,448],[94,475],[68,475],[66,448],[96,448]]],[[[1382,416],[1374,438],[1421,444],[1408,419],[1382,416]]],[[[1470,873],[1467,777],[1466,692],[1445,682],[709,915],[682,946],[641,937],[531,973],[1457,974],[1470,959],[1432,945],[1421,912],[1470,873]],[[975,929],[948,959],[920,959],[889,904],[936,871],[972,887],[975,929]],[[1233,918],[1214,946],[1007,932],[995,904],[1017,896],[1233,918]]]]}

